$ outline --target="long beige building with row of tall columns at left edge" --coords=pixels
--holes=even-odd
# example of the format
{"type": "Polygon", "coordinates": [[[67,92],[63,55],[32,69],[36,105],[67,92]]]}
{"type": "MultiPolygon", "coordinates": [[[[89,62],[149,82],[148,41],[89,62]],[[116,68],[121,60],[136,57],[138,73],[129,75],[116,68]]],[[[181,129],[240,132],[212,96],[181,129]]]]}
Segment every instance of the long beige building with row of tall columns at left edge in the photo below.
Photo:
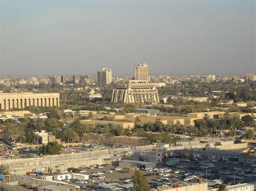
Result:
{"type": "Polygon", "coordinates": [[[42,107],[59,107],[59,93],[1,93],[0,110],[25,108],[31,105],[42,107]]]}

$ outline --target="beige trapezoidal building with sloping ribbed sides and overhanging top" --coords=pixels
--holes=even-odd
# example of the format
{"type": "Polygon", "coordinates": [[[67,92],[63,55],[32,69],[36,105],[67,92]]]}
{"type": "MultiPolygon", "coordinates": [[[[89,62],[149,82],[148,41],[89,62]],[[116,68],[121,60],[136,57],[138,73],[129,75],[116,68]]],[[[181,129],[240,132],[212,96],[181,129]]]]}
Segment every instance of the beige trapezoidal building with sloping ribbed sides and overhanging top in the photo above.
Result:
{"type": "Polygon", "coordinates": [[[123,80],[116,84],[112,94],[113,103],[159,103],[155,83],[146,80],[123,80]]]}

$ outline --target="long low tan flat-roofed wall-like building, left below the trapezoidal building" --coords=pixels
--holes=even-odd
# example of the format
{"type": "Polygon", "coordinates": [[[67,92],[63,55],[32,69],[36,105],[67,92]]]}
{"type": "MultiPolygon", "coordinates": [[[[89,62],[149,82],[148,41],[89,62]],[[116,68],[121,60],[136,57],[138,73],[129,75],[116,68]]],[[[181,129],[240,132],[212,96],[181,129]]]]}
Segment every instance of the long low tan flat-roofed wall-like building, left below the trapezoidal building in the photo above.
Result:
{"type": "Polygon", "coordinates": [[[87,125],[96,125],[96,124],[101,124],[101,125],[107,125],[107,124],[113,124],[113,125],[119,125],[122,126],[124,129],[132,129],[134,128],[134,122],[120,122],[120,121],[103,121],[103,120],[80,120],[82,124],[87,124],[87,125]]]}

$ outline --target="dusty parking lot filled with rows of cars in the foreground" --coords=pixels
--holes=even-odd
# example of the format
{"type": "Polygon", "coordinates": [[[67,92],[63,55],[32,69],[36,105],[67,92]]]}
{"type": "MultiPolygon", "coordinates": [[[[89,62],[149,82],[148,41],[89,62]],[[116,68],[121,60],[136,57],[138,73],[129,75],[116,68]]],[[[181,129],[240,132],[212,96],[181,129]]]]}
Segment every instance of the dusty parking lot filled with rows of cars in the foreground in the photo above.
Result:
{"type": "MultiPolygon", "coordinates": [[[[146,177],[147,181],[153,187],[157,186],[173,186],[175,184],[187,185],[191,182],[196,182],[197,179],[204,178],[208,180],[220,179],[226,184],[232,184],[233,178],[235,177],[236,183],[251,182],[255,181],[256,167],[251,165],[242,164],[226,164],[225,161],[204,161],[205,164],[212,164],[213,166],[207,169],[200,168],[198,164],[199,161],[180,161],[177,165],[173,167],[168,167],[166,165],[157,164],[157,169],[152,172],[141,171],[146,177]],[[171,169],[171,172],[167,169],[171,169]],[[158,171],[160,169],[160,171],[158,171]],[[235,169],[235,171],[234,171],[235,169]],[[178,172],[177,170],[181,171],[178,172]],[[247,171],[247,172],[246,172],[247,171]],[[241,178],[241,179],[240,179],[241,178]]],[[[92,177],[93,182],[84,183],[85,187],[101,187],[102,182],[118,182],[124,185],[131,183],[131,176],[135,171],[124,169],[115,171],[113,166],[105,166],[104,168],[86,168],[86,172],[83,174],[93,174],[96,172],[100,173],[101,178],[98,179],[96,176],[92,177]],[[112,173],[106,172],[111,170],[112,173]]]]}

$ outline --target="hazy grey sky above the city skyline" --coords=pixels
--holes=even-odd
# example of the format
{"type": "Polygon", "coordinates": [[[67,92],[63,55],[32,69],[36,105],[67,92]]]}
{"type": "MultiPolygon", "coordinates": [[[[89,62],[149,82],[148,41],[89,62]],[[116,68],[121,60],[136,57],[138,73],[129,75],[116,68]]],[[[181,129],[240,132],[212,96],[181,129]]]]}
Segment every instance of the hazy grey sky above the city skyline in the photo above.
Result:
{"type": "Polygon", "coordinates": [[[0,2],[0,74],[256,73],[254,0],[0,2]]]}

